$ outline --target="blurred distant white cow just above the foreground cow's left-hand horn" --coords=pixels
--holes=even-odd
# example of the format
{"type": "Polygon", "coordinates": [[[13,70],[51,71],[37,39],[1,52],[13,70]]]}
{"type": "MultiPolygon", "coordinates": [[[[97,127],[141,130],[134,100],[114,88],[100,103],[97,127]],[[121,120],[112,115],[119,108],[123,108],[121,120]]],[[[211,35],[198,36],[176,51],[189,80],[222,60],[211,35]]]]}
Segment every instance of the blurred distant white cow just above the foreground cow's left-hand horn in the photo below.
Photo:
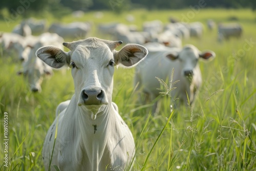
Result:
{"type": "Polygon", "coordinates": [[[91,27],[91,24],[87,22],[74,22],[70,24],[53,23],[49,27],[49,32],[57,33],[63,38],[81,39],[86,38],[91,27]]]}

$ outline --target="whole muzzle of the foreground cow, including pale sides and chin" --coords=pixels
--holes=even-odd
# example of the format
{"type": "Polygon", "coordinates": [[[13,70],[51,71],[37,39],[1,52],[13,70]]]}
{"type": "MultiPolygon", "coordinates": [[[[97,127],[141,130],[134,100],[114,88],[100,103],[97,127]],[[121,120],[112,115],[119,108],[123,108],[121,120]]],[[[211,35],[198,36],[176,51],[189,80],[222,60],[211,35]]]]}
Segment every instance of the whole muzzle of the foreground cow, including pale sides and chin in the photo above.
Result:
{"type": "Polygon", "coordinates": [[[106,93],[101,88],[83,89],[80,93],[78,105],[101,105],[108,104],[106,93]]]}

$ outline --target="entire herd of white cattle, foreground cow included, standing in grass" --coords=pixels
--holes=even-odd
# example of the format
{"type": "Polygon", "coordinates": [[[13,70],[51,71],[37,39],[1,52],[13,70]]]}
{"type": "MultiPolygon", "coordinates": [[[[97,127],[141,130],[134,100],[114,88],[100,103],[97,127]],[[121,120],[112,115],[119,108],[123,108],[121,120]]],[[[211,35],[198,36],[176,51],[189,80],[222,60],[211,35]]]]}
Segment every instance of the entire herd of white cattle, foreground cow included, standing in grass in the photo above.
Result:
{"type": "MultiPolygon", "coordinates": [[[[45,20],[28,19],[12,33],[0,34],[3,55],[14,54],[22,61],[23,69],[18,74],[28,77],[31,91],[42,91],[43,75],[51,75],[53,69],[71,70],[75,93],[71,100],[57,106],[42,150],[46,170],[53,165],[60,170],[131,168],[135,156],[133,135],[112,102],[115,66],[135,67],[134,85],[148,101],[159,96],[156,77],[166,82],[179,80],[170,92],[171,103],[177,108],[195,101],[202,84],[199,60],[216,56],[211,50],[182,45],[183,39],[203,36],[204,25],[200,22],[163,25],[153,20],[143,23],[142,31],[120,23],[97,25],[100,35],[113,40],[86,38],[92,27],[92,23],[75,22],[55,23],[47,29],[45,20]],[[77,37],[85,39],[64,41],[77,37]],[[115,50],[123,42],[126,45],[115,50]],[[177,98],[178,102],[174,101],[177,98]]],[[[207,27],[214,29],[214,21],[208,20],[207,27]]],[[[220,41],[241,34],[239,24],[218,25],[220,41]]],[[[156,102],[153,112],[158,111],[156,102]]]]}

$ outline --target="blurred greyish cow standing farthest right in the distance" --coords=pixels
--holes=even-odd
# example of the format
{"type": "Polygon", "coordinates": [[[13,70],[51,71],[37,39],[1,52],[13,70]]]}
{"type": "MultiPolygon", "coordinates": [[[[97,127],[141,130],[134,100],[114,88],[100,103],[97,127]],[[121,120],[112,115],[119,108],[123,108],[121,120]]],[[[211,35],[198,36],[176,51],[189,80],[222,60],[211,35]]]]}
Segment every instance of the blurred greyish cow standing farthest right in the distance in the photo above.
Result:
{"type": "Polygon", "coordinates": [[[218,25],[218,40],[228,40],[230,37],[240,38],[242,35],[242,26],[238,23],[219,24],[218,25]]]}

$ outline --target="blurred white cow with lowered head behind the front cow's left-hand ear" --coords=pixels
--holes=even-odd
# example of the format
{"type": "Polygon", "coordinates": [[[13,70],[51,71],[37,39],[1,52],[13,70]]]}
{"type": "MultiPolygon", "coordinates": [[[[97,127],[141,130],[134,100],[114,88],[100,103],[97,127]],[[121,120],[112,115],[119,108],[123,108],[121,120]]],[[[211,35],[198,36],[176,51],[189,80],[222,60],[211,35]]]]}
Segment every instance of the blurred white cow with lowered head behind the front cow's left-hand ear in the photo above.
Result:
{"type": "Polygon", "coordinates": [[[30,90],[32,92],[41,91],[41,82],[44,75],[51,75],[52,68],[46,65],[42,60],[36,57],[35,52],[42,46],[54,45],[62,48],[61,41],[64,41],[62,37],[56,33],[43,33],[38,37],[38,40],[33,46],[30,46],[30,52],[28,59],[23,62],[23,71],[19,71],[18,74],[24,74],[28,79],[30,90]]]}

